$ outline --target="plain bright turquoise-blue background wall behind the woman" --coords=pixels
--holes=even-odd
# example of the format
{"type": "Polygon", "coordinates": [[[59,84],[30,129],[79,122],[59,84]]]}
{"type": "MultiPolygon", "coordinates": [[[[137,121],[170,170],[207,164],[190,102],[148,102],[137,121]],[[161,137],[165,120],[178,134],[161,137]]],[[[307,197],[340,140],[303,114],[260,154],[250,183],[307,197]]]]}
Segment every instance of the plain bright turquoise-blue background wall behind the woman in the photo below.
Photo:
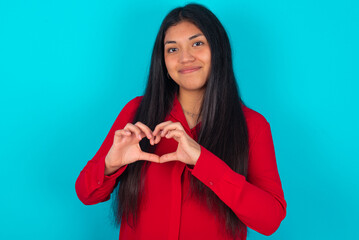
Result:
{"type": "MultiPolygon", "coordinates": [[[[270,122],[287,217],[254,239],[354,239],[359,4],[198,1],[221,20],[249,107],[270,122]]],[[[186,1],[0,1],[0,239],[118,239],[75,180],[143,93],[163,17],[186,1]]]]}

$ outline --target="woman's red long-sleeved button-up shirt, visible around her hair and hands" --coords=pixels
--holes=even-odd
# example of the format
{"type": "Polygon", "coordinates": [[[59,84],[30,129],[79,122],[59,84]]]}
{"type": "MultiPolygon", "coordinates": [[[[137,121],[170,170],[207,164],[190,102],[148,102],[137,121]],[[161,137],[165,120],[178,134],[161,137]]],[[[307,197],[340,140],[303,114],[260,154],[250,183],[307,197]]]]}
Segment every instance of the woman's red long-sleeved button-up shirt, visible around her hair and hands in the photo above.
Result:
{"type": "MultiPolygon", "coordinates": [[[[111,176],[104,176],[104,161],[114,132],[132,122],[141,99],[137,97],[123,108],[100,149],[81,171],[76,192],[84,204],[109,200],[116,178],[126,170],[124,166],[111,176]]],[[[248,227],[265,235],[277,230],[286,215],[286,202],[270,126],[259,113],[247,107],[243,110],[250,147],[247,180],[204,147],[193,169],[179,161],[148,162],[146,194],[140,204],[138,225],[132,229],[123,219],[120,239],[230,239],[224,222],[216,218],[206,203],[189,195],[189,174],[212,189],[248,227]]],[[[180,122],[187,134],[197,140],[198,129],[189,128],[177,99],[166,120],[180,122]]],[[[175,140],[162,138],[155,153],[161,156],[176,149],[175,140]]]]}

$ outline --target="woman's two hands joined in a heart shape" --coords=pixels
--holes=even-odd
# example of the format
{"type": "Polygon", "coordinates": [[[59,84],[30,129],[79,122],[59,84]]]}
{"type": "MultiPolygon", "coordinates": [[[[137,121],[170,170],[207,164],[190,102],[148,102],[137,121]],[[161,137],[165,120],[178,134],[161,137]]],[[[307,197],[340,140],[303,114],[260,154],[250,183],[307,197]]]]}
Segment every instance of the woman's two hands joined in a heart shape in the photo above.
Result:
{"type": "Polygon", "coordinates": [[[110,175],[122,166],[139,160],[156,163],[181,161],[185,164],[195,165],[200,154],[201,146],[188,136],[179,122],[167,121],[160,123],[153,132],[141,122],[136,124],[128,123],[124,129],[115,132],[113,144],[105,159],[105,175],[110,175]],[[139,142],[144,137],[150,140],[151,145],[159,143],[162,137],[173,138],[178,142],[177,150],[161,157],[143,152],[139,142]]]}

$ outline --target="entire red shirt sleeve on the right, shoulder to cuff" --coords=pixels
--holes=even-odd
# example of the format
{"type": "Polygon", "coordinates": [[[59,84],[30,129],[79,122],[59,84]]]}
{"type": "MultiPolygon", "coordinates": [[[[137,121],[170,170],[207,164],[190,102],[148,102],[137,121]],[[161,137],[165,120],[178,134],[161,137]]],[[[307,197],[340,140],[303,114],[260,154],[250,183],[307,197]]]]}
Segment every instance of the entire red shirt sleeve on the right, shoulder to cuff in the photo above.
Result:
{"type": "MultiPolygon", "coordinates": [[[[263,118],[264,119],[264,118],[263,118]]],[[[208,186],[253,230],[273,234],[286,216],[270,126],[262,121],[250,141],[248,178],[201,146],[192,175],[208,186]]]]}

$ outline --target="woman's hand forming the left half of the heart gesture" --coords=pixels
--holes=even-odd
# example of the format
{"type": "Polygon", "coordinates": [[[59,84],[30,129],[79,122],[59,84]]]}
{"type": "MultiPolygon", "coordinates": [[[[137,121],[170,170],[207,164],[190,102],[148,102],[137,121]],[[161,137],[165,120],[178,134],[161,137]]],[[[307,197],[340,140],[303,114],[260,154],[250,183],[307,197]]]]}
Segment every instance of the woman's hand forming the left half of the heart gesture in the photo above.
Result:
{"type": "Polygon", "coordinates": [[[154,144],[152,131],[141,122],[128,123],[124,129],[117,130],[113,144],[105,158],[105,175],[110,175],[122,166],[138,160],[159,163],[158,155],[141,150],[139,142],[144,137],[147,137],[152,145],[154,144]]]}

